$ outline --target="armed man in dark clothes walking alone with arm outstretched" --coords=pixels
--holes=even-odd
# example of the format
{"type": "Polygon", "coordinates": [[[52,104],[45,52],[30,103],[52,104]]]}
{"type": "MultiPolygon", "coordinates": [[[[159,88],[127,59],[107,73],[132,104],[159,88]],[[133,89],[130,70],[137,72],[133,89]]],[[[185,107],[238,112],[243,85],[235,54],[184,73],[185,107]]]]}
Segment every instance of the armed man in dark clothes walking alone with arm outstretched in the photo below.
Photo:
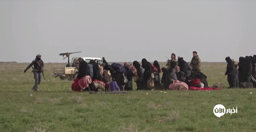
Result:
{"type": "MultiPolygon", "coordinates": [[[[43,63],[43,60],[41,60],[41,55],[36,55],[35,60],[33,60],[28,67],[24,70],[24,73],[31,68],[31,66],[34,65],[34,69],[32,72],[34,72],[34,78],[35,78],[35,85],[33,86],[32,90],[34,92],[38,92],[38,85],[41,83],[41,73],[43,74],[43,68],[45,67],[45,64],[43,63]]],[[[32,67],[33,68],[33,67],[32,67]]]]}

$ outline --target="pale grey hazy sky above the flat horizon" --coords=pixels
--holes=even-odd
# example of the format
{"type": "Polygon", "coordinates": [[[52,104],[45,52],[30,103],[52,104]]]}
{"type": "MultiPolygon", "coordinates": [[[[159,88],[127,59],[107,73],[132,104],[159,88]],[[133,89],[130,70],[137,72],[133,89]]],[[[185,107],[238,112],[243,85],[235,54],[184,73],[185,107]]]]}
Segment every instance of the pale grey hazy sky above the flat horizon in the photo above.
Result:
{"type": "Polygon", "coordinates": [[[256,54],[256,0],[1,0],[0,61],[225,61],[256,54]]]}

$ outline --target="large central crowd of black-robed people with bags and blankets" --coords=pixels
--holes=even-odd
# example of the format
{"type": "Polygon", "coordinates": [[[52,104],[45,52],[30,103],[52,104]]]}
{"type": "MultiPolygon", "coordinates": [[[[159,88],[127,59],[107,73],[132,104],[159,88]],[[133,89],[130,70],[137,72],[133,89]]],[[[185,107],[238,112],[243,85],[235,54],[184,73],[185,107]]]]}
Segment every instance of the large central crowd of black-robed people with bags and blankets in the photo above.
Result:
{"type": "Polygon", "coordinates": [[[78,76],[71,88],[73,91],[130,91],[133,89],[133,82],[136,83],[136,90],[168,90],[175,81],[185,82],[188,87],[209,88],[207,76],[200,70],[192,69],[182,57],[168,60],[167,68],[160,68],[158,61],[153,64],[145,58],[140,64],[134,61],[132,64],[112,63],[109,65],[105,58],[99,65],[94,60],[89,63],[78,59],[78,76]],[[162,78],[160,73],[163,72],[162,78]],[[153,84],[153,85],[152,85],[153,84]]]}

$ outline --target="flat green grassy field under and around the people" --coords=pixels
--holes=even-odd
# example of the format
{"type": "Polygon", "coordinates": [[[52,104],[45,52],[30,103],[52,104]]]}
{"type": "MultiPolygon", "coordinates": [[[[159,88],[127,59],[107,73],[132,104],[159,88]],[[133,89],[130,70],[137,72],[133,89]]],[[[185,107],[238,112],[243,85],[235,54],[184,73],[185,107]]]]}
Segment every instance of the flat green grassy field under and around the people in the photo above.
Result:
{"type": "MultiPolygon", "coordinates": [[[[78,93],[71,90],[72,81],[51,76],[53,67],[65,65],[45,63],[46,80],[35,93],[32,69],[23,72],[28,63],[0,63],[0,132],[256,131],[255,89],[78,93]],[[217,104],[237,106],[238,112],[218,118],[217,104]]],[[[228,87],[226,63],[202,63],[201,69],[211,86],[228,87]]]]}

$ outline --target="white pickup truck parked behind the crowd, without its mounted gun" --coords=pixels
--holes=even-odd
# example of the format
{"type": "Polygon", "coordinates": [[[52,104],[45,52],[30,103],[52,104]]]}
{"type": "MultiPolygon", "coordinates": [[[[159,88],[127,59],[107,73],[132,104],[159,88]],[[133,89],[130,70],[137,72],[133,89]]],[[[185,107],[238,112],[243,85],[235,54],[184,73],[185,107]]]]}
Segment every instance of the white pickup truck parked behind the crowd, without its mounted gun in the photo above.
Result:
{"type": "MultiPolygon", "coordinates": [[[[74,80],[78,76],[78,67],[76,67],[76,60],[80,57],[73,57],[71,61],[71,67],[54,67],[53,68],[53,77],[59,77],[60,80],[74,80]]],[[[81,57],[89,63],[90,60],[95,60],[99,64],[103,63],[101,58],[93,58],[93,57],[81,57]]]]}

